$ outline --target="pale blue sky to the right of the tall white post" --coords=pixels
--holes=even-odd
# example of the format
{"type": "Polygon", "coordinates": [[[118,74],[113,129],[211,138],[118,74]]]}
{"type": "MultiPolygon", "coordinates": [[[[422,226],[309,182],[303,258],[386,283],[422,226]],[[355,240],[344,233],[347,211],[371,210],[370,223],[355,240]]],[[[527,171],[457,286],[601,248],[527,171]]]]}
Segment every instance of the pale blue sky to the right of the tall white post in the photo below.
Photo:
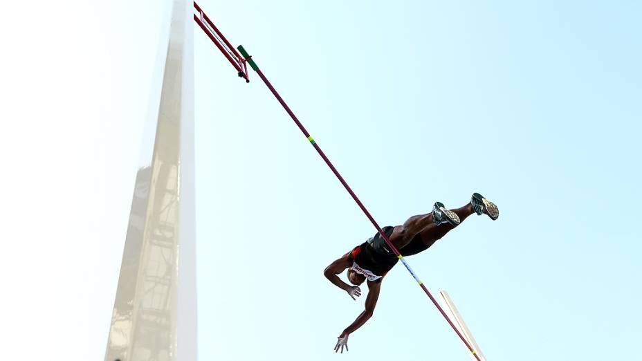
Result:
{"type": "MultiPolygon", "coordinates": [[[[201,5],[382,225],[475,191],[499,205],[409,259],[489,360],[632,358],[638,4],[201,5]]],[[[321,272],[374,228],[256,76],[199,34],[196,59],[200,353],[328,360],[363,299],[321,272]]],[[[400,266],[339,357],[465,360],[458,343],[400,266]]]]}

